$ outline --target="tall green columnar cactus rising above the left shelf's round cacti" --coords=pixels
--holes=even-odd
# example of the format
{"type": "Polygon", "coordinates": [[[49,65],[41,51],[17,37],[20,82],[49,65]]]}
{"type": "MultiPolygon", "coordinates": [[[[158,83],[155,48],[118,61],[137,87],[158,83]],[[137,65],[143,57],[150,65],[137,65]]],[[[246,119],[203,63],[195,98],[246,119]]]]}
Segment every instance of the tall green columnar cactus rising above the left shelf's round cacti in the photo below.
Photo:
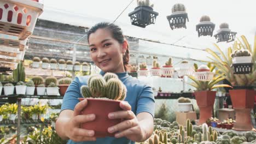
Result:
{"type": "Polygon", "coordinates": [[[13,70],[13,79],[15,82],[18,81],[25,81],[26,74],[25,74],[25,68],[23,66],[22,61],[18,63],[18,66],[15,70],[13,70]]]}

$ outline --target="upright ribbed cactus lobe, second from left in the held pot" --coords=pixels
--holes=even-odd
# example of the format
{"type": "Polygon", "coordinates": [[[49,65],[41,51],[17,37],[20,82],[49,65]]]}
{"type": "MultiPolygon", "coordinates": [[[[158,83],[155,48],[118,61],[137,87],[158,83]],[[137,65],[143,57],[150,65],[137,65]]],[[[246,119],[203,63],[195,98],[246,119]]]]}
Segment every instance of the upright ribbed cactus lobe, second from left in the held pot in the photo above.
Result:
{"type": "Polygon", "coordinates": [[[106,94],[106,81],[101,76],[92,77],[90,80],[90,90],[93,97],[104,97],[106,94]]]}

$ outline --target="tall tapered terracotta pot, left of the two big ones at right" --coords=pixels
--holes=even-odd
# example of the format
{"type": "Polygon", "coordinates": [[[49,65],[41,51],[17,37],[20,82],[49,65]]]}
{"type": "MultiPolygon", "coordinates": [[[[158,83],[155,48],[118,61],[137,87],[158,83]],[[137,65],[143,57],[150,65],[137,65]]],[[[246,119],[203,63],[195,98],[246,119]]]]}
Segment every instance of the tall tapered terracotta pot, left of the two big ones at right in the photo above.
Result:
{"type": "Polygon", "coordinates": [[[196,103],[200,110],[199,125],[205,123],[208,118],[212,117],[215,96],[216,92],[214,91],[195,92],[196,103]]]}

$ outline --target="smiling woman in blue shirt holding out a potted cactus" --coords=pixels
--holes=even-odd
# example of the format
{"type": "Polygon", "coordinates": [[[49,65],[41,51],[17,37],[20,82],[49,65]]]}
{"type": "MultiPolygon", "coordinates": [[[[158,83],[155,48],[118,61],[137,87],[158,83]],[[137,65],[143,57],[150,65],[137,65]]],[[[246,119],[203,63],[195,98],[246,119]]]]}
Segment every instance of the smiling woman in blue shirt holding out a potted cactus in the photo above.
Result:
{"type": "Polygon", "coordinates": [[[101,69],[101,75],[112,72],[127,88],[125,101],[120,103],[123,111],[109,113],[110,119],[125,121],[108,128],[114,137],[97,138],[94,131],[82,129],[81,123],[94,121],[95,115],[79,115],[86,109],[87,100],[80,101],[80,87],[87,85],[88,76],[76,77],[63,98],[61,113],[56,122],[57,134],[68,143],[135,143],[147,140],[153,133],[155,101],[152,87],[129,76],[129,47],[120,27],[113,23],[98,23],[88,32],[92,61],[101,69]],[[128,102],[128,103],[127,103],[128,102]]]}

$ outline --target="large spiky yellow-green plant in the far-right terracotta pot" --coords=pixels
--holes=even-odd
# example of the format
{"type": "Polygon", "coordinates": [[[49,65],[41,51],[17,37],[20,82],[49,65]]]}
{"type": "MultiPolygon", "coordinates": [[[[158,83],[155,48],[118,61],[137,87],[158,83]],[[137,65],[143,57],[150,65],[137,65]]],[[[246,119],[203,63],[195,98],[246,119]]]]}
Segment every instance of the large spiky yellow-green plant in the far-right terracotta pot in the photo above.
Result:
{"type": "Polygon", "coordinates": [[[251,45],[249,45],[244,35],[241,36],[241,39],[242,41],[240,39],[237,39],[237,41],[234,42],[233,46],[228,48],[228,52],[226,55],[216,44],[214,44],[214,46],[217,48],[220,56],[211,49],[207,48],[206,51],[210,53],[210,55],[213,57],[210,57],[210,59],[214,62],[213,64],[219,69],[220,73],[224,75],[224,78],[228,80],[232,86],[251,86],[256,81],[256,35],[254,37],[253,49],[251,48],[251,45]],[[248,50],[250,53],[252,53],[253,71],[250,74],[236,75],[232,73],[231,53],[235,50],[241,49],[248,50]]]}

